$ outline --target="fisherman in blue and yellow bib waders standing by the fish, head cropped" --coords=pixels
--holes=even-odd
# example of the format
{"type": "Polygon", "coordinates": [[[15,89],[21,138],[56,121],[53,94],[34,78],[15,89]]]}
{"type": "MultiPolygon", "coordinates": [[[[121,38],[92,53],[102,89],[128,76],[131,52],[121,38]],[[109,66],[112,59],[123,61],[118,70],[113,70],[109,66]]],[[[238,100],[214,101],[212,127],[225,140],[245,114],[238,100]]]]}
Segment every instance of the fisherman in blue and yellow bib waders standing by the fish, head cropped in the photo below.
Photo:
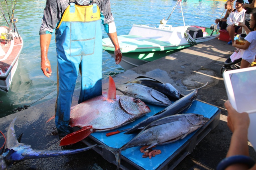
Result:
{"type": "Polygon", "coordinates": [[[122,53],[116,26],[110,9],[110,0],[47,0],[40,27],[41,69],[47,77],[52,70],[48,48],[55,31],[57,51],[57,89],[55,124],[59,137],[73,129],[69,127],[70,107],[78,70],[81,73],[81,91],[78,104],[102,95],[102,29],[115,46],[115,62],[122,53]]]}

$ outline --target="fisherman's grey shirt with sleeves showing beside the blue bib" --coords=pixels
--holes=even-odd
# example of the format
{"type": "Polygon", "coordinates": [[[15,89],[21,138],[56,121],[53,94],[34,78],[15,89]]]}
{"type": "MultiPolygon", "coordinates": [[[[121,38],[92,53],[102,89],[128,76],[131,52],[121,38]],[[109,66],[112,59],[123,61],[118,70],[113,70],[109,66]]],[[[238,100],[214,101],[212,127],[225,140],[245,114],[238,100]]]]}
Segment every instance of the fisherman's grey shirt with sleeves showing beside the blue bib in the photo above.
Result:
{"type": "MultiPolygon", "coordinates": [[[[85,2],[86,3],[86,2],[85,2]]],[[[101,15],[104,17],[102,19],[102,24],[105,26],[107,33],[109,28],[108,24],[114,22],[114,18],[110,9],[110,0],[96,0],[97,5],[101,10],[101,15]]],[[[47,0],[44,9],[44,16],[42,19],[42,25],[40,27],[39,34],[46,34],[46,32],[52,33],[57,26],[57,23],[61,19],[61,16],[65,9],[69,5],[69,0],[47,0]]],[[[113,24],[111,24],[112,26],[113,24]]],[[[115,24],[114,24],[115,26],[115,24]]]]}

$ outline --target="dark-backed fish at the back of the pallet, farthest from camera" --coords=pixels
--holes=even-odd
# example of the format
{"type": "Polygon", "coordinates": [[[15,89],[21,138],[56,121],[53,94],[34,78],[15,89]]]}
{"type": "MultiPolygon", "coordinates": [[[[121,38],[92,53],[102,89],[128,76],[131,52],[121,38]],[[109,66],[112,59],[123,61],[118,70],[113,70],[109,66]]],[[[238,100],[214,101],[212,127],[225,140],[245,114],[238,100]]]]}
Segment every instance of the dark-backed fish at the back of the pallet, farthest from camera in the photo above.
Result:
{"type": "Polygon", "coordinates": [[[153,78],[138,76],[133,81],[128,81],[132,83],[142,84],[144,86],[150,87],[158,92],[166,95],[170,100],[178,100],[180,99],[180,92],[175,89],[170,83],[163,83],[153,78]]]}

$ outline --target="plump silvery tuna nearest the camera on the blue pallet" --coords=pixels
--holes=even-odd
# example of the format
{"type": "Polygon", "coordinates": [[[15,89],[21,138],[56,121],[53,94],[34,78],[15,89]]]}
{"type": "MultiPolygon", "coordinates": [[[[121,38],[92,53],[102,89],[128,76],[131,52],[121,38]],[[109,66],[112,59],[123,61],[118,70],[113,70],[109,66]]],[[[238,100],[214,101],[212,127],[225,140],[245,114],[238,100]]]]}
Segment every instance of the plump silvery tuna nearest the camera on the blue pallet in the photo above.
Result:
{"type": "Polygon", "coordinates": [[[197,130],[209,121],[203,115],[179,114],[156,120],[144,127],[141,132],[124,144],[121,148],[98,145],[114,153],[117,161],[117,169],[120,167],[120,154],[122,150],[136,146],[148,145],[151,148],[156,145],[165,145],[184,139],[188,134],[197,130]]]}

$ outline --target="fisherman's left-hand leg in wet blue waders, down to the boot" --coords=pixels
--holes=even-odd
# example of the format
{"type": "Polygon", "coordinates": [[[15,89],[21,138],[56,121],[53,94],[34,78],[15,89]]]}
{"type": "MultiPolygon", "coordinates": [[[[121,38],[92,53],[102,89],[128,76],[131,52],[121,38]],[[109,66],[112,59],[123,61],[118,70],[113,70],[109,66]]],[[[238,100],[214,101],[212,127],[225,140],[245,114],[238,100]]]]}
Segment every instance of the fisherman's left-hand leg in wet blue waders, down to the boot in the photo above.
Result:
{"type": "Polygon", "coordinates": [[[55,124],[60,137],[73,132],[73,128],[69,127],[70,107],[78,75],[80,58],[80,56],[63,57],[58,55],[58,95],[55,108],[55,124]]]}

